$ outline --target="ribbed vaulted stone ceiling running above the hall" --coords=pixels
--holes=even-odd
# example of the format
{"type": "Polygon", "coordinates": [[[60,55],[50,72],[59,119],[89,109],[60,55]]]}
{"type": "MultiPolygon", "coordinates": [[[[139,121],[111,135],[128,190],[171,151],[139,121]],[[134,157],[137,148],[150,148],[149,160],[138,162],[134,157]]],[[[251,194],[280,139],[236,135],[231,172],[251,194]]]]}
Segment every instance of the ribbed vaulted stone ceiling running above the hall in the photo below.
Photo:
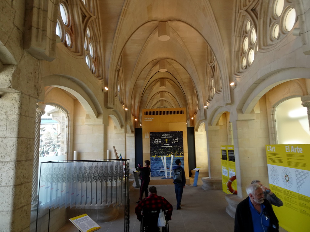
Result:
{"type": "Polygon", "coordinates": [[[104,52],[104,78],[113,88],[121,61],[123,102],[135,117],[148,108],[185,107],[188,118],[203,112],[211,56],[226,88],[232,12],[223,14],[224,2],[232,8],[230,0],[99,1],[103,49],[110,51],[104,52]],[[158,38],[163,22],[170,37],[166,41],[158,38]],[[159,71],[160,62],[166,72],[159,71]]]}

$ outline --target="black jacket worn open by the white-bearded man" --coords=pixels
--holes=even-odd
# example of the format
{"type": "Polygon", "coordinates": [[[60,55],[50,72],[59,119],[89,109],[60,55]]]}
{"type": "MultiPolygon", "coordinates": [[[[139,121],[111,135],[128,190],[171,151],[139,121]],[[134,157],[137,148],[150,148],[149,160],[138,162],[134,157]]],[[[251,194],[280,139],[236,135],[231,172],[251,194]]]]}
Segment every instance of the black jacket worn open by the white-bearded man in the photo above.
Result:
{"type": "MultiPolygon", "coordinates": [[[[268,232],[278,232],[279,231],[279,221],[276,214],[273,212],[272,206],[268,200],[264,199],[263,205],[265,206],[264,211],[268,214],[270,218],[270,225],[275,225],[276,228],[268,229],[268,232]]],[[[249,197],[241,201],[237,205],[236,215],[235,215],[235,232],[253,232],[253,222],[252,214],[249,205],[249,197]]]]}

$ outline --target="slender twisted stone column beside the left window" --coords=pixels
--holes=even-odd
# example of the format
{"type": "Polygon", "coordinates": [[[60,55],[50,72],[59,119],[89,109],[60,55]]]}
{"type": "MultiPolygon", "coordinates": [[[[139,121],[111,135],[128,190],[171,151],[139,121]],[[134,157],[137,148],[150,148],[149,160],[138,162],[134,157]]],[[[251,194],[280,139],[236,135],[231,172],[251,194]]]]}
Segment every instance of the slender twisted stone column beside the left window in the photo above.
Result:
{"type": "Polygon", "coordinates": [[[41,117],[45,114],[45,104],[38,103],[36,110],[35,135],[34,135],[34,151],[33,151],[33,172],[32,172],[32,196],[31,196],[31,210],[37,210],[38,204],[41,208],[38,197],[38,170],[39,170],[39,148],[40,148],[40,130],[41,117]]]}

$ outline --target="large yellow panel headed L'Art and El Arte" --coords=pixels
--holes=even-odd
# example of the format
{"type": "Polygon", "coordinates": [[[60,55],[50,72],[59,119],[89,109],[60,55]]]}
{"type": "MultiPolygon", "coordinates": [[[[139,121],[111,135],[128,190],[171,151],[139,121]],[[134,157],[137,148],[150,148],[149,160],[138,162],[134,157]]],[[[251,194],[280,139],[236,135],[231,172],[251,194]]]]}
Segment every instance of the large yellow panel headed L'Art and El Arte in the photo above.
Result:
{"type": "Polygon", "coordinates": [[[266,145],[269,186],[283,201],[274,209],[289,232],[309,231],[310,144],[266,145]]]}

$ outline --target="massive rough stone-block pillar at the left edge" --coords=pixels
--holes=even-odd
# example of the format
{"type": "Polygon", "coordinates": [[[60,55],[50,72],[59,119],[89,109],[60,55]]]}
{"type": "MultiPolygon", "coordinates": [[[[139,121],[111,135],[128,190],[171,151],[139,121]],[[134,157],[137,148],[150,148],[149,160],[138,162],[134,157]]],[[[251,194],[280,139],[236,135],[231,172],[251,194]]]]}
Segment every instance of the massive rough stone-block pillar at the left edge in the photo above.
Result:
{"type": "Polygon", "coordinates": [[[0,98],[0,231],[29,231],[36,99],[0,98]]]}

